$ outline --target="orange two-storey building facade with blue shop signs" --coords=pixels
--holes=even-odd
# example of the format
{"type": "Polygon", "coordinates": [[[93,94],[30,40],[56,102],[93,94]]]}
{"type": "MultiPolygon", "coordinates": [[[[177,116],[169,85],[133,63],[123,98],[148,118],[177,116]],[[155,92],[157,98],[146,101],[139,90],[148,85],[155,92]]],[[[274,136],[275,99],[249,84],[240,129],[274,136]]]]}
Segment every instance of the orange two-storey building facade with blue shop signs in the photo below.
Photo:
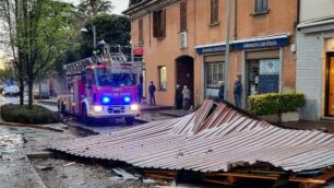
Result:
{"type": "Polygon", "coordinates": [[[179,84],[199,105],[217,96],[219,81],[232,102],[239,77],[244,107],[249,95],[296,89],[297,10],[298,0],[232,0],[228,64],[226,0],[144,0],[124,13],[132,44],[144,49],[144,81],[156,84],[157,104],[174,105],[179,84]]]}

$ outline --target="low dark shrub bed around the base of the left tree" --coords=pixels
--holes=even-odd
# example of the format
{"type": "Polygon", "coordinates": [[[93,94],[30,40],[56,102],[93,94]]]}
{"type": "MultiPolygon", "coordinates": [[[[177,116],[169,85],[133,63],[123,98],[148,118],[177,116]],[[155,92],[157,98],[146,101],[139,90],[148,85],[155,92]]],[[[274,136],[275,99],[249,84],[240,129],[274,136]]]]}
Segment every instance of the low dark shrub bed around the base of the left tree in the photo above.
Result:
{"type": "Polygon", "coordinates": [[[1,118],[9,122],[19,124],[56,124],[60,122],[59,116],[41,106],[3,105],[1,106],[1,118]]]}

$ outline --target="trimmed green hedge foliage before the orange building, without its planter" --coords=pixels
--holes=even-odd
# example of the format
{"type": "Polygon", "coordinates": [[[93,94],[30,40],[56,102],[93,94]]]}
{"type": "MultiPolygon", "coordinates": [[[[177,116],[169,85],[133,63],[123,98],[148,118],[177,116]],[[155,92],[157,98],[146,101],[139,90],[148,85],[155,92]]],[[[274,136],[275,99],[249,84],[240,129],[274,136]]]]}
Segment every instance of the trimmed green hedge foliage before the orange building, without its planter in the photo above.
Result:
{"type": "Polygon", "coordinates": [[[249,97],[249,110],[254,115],[296,111],[306,103],[301,93],[270,93],[249,97]]]}

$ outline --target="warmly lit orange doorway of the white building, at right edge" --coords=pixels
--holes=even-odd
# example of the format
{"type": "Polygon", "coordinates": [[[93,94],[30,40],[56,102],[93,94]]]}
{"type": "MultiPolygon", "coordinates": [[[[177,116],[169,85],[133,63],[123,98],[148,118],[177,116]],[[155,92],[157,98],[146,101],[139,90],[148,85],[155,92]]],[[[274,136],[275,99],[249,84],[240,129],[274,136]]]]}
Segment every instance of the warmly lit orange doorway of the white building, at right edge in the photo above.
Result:
{"type": "Polygon", "coordinates": [[[334,54],[327,54],[325,116],[334,117],[334,54]]]}

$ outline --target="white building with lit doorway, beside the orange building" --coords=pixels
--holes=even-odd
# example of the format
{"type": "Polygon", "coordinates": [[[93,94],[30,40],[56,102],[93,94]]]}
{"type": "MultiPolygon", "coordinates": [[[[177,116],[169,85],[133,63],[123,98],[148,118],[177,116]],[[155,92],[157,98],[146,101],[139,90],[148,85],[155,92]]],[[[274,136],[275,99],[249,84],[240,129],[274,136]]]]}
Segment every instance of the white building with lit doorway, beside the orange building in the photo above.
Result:
{"type": "Polygon", "coordinates": [[[334,1],[300,1],[297,90],[307,96],[302,118],[334,115],[334,1]],[[314,9],[315,8],[315,9],[314,9]]]}

